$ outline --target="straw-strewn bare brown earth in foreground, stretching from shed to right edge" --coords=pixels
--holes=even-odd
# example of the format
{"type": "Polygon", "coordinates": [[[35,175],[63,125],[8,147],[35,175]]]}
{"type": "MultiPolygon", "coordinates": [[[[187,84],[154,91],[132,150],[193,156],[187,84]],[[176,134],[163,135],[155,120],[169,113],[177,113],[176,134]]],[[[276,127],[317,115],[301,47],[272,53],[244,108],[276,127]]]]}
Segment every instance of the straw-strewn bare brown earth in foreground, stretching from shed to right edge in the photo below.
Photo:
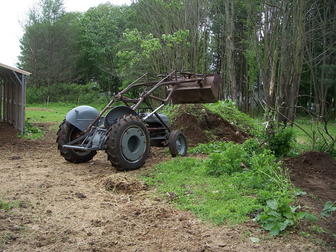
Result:
{"type": "MultiPolygon", "coordinates": [[[[118,172],[104,152],[85,164],[66,162],[57,150],[55,126],[39,127],[46,134],[32,141],[18,138],[13,127],[0,123],[0,200],[21,202],[9,213],[0,210],[1,251],[332,250],[326,245],[333,241],[319,234],[305,237],[292,230],[271,238],[252,221],[211,227],[187,211],[173,209],[155,189],[135,178],[139,170],[118,172]],[[251,237],[258,237],[260,242],[252,243],[251,237]]],[[[151,148],[140,170],[169,158],[165,148],[151,148]]],[[[302,206],[307,202],[317,212],[326,201],[336,200],[336,165],[328,160],[330,166],[323,163],[320,170],[330,170],[322,176],[310,170],[309,162],[300,170],[304,174],[298,174],[316,184],[298,186],[321,199],[315,203],[305,196],[300,202],[302,206]],[[334,177],[326,183],[331,173],[334,177]]],[[[298,162],[304,161],[288,159],[286,165],[295,173],[298,162]]],[[[324,227],[335,228],[335,217],[325,223],[324,227]]]]}

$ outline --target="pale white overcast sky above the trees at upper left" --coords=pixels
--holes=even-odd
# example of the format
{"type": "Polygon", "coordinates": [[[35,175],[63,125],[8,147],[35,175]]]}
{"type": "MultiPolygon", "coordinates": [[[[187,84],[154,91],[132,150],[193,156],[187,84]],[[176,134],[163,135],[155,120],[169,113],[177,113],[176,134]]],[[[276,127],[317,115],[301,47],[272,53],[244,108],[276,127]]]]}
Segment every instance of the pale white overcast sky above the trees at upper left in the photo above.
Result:
{"type": "MultiPolygon", "coordinates": [[[[16,67],[20,55],[23,30],[19,20],[34,2],[39,0],[1,0],[0,2],[0,63],[16,67]]],[[[84,12],[108,0],[63,0],[66,11],[84,12]]],[[[130,4],[131,0],[109,0],[115,5],[130,4]]]]}

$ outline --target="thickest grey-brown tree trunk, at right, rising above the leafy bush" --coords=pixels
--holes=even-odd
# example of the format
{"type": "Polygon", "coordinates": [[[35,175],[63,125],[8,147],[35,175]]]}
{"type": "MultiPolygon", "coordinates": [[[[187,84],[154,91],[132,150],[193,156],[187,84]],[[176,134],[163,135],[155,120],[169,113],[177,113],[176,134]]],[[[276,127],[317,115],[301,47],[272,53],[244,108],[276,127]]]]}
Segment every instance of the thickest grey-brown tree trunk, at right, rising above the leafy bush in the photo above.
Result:
{"type": "Polygon", "coordinates": [[[278,123],[294,122],[301,83],[305,0],[282,1],[280,79],[277,107],[278,123]],[[288,121],[289,120],[289,121],[288,121]]]}

